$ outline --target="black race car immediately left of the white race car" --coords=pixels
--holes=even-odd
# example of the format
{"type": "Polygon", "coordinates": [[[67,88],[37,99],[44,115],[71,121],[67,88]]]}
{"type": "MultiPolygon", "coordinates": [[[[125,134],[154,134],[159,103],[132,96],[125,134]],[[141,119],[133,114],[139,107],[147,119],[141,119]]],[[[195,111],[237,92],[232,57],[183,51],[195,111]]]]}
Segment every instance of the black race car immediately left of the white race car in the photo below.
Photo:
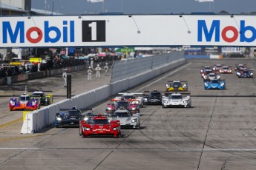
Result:
{"type": "Polygon", "coordinates": [[[162,93],[156,89],[154,91],[145,91],[143,104],[162,104],[162,93]]]}

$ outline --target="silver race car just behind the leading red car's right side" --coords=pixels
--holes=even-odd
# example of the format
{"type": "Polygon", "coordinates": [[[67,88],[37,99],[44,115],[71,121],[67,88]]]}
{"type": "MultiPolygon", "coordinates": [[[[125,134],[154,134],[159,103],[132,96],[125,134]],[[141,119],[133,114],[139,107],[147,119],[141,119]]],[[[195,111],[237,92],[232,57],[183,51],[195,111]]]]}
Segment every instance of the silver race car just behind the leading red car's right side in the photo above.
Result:
{"type": "Polygon", "coordinates": [[[120,120],[121,128],[140,129],[140,113],[131,114],[126,109],[117,109],[112,116],[112,120],[120,120]]]}

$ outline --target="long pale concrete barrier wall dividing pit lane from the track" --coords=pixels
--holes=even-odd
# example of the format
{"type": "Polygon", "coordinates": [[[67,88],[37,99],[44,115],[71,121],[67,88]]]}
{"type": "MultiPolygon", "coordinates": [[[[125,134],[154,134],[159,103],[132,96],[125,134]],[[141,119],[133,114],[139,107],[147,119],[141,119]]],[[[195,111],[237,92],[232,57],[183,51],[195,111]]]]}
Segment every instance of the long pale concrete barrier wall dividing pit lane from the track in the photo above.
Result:
{"type": "Polygon", "coordinates": [[[53,124],[55,115],[57,112],[59,112],[59,108],[71,108],[72,106],[85,108],[88,106],[93,106],[94,104],[111,97],[111,95],[116,95],[117,92],[122,92],[130,89],[131,87],[142,84],[143,82],[157,77],[158,75],[161,75],[171,69],[179,67],[182,64],[186,64],[185,58],[172,61],[171,63],[165,64],[162,67],[156,67],[155,69],[148,70],[147,72],[142,72],[139,75],[134,75],[130,78],[125,78],[121,81],[116,81],[97,89],[93,89],[89,92],[76,95],[71,99],[65,99],[64,101],[53,103],[50,106],[46,106],[42,109],[28,112],[25,116],[21,133],[27,134],[38,132],[40,129],[44,129],[46,126],[53,124]]]}

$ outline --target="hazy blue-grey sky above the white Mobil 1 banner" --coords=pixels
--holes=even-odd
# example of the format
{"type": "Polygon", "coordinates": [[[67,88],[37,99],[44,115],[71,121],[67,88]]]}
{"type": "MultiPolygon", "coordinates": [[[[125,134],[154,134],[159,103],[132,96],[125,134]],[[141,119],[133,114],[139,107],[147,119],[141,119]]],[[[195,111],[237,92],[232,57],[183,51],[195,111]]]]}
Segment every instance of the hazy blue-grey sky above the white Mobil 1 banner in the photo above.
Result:
{"type": "Polygon", "coordinates": [[[105,0],[91,3],[87,0],[31,0],[32,8],[49,10],[65,15],[92,13],[168,14],[168,13],[228,13],[256,12],[256,0],[214,0],[199,3],[195,0],[105,0]]]}

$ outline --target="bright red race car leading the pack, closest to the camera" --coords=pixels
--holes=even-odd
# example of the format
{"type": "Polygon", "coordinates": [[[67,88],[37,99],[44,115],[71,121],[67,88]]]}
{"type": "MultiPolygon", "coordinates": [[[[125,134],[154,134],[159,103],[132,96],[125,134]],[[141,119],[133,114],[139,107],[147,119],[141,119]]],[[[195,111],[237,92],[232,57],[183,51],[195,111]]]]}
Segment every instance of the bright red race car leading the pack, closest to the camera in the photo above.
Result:
{"type": "Polygon", "coordinates": [[[93,116],[88,120],[79,121],[79,135],[84,137],[90,136],[121,136],[121,126],[119,120],[108,120],[103,115],[93,116]]]}

